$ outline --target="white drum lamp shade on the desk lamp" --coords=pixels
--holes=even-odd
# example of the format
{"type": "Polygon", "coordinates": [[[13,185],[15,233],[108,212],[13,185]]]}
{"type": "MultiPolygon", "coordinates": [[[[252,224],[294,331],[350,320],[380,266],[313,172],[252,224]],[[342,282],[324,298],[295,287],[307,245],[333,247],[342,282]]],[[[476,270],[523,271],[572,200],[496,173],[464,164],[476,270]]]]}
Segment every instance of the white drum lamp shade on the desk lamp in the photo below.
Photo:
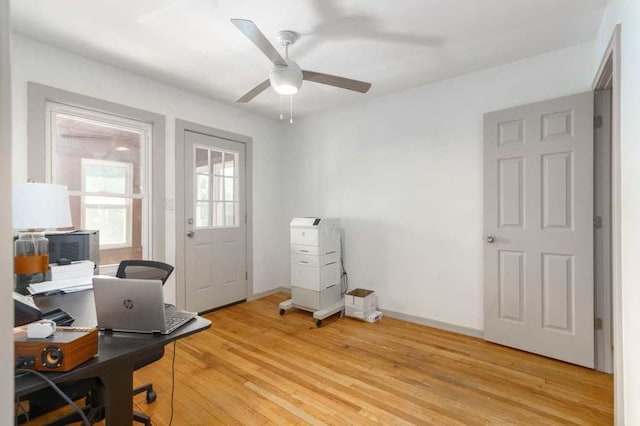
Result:
{"type": "Polygon", "coordinates": [[[31,182],[13,185],[13,229],[70,226],[71,210],[66,186],[31,182]]]}

